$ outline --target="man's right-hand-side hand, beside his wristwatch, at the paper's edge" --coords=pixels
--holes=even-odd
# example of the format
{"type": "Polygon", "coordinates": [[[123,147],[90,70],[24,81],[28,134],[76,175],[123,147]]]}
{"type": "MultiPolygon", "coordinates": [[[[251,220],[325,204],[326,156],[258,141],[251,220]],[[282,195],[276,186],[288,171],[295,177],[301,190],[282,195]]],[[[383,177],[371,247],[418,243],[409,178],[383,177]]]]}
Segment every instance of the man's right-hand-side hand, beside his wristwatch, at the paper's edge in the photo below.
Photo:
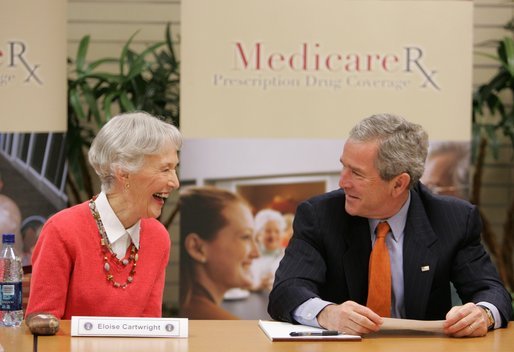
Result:
{"type": "Polygon", "coordinates": [[[487,334],[487,314],[474,303],[455,306],[444,322],[445,334],[453,337],[477,337],[487,334]]]}

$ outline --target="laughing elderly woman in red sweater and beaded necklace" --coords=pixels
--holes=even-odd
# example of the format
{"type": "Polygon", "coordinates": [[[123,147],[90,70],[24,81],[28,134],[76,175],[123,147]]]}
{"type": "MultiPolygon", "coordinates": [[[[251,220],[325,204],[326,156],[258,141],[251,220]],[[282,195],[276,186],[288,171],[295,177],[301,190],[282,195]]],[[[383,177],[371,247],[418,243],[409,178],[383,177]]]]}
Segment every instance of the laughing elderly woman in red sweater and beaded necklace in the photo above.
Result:
{"type": "Polygon", "coordinates": [[[103,126],[89,151],[102,191],[45,223],[27,315],[161,316],[170,238],[156,218],[179,187],[181,143],[176,127],[144,112],[103,126]]]}

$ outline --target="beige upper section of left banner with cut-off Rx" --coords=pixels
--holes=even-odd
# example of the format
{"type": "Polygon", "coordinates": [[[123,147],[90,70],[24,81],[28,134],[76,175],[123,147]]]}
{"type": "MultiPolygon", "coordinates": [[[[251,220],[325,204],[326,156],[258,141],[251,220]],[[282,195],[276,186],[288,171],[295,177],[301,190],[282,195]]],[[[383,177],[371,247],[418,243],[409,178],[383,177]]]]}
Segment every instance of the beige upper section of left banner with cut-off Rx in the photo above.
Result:
{"type": "Polygon", "coordinates": [[[3,1],[0,131],[66,131],[65,0],[3,1]]]}

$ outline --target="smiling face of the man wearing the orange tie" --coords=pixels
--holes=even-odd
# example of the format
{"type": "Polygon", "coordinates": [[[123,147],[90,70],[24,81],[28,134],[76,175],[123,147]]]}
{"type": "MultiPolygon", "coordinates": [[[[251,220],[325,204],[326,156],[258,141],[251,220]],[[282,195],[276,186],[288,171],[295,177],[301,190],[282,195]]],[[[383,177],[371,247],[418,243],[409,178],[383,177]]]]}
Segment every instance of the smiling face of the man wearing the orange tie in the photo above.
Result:
{"type": "Polygon", "coordinates": [[[348,140],[341,155],[339,186],[346,193],[345,209],[350,215],[372,219],[392,216],[395,179],[384,181],[375,168],[378,145],[376,142],[348,140]]]}

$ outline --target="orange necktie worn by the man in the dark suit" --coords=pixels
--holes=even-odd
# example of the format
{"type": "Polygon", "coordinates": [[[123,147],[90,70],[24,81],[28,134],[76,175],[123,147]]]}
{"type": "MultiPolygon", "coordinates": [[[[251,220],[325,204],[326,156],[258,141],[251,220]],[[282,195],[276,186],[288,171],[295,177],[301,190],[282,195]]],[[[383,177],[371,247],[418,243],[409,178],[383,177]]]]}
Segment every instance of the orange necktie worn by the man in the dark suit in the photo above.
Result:
{"type": "Polygon", "coordinates": [[[377,239],[369,257],[368,302],[366,306],[381,317],[391,316],[391,264],[385,243],[389,224],[377,226],[377,239]]]}

